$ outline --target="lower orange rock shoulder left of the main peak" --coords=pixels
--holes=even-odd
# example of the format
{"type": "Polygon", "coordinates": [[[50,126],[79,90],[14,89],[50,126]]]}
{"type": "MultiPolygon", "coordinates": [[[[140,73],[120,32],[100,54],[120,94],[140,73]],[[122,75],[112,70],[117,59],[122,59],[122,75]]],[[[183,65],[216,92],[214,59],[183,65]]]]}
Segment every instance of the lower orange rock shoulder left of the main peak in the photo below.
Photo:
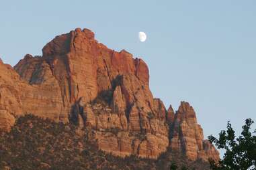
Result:
{"type": "Polygon", "coordinates": [[[25,64],[19,67],[24,70],[21,76],[11,66],[0,63],[0,110],[14,116],[33,113],[67,122],[68,117],[62,116],[65,109],[62,106],[60,87],[50,67],[38,58],[27,56],[19,62],[19,65],[25,64]]]}

